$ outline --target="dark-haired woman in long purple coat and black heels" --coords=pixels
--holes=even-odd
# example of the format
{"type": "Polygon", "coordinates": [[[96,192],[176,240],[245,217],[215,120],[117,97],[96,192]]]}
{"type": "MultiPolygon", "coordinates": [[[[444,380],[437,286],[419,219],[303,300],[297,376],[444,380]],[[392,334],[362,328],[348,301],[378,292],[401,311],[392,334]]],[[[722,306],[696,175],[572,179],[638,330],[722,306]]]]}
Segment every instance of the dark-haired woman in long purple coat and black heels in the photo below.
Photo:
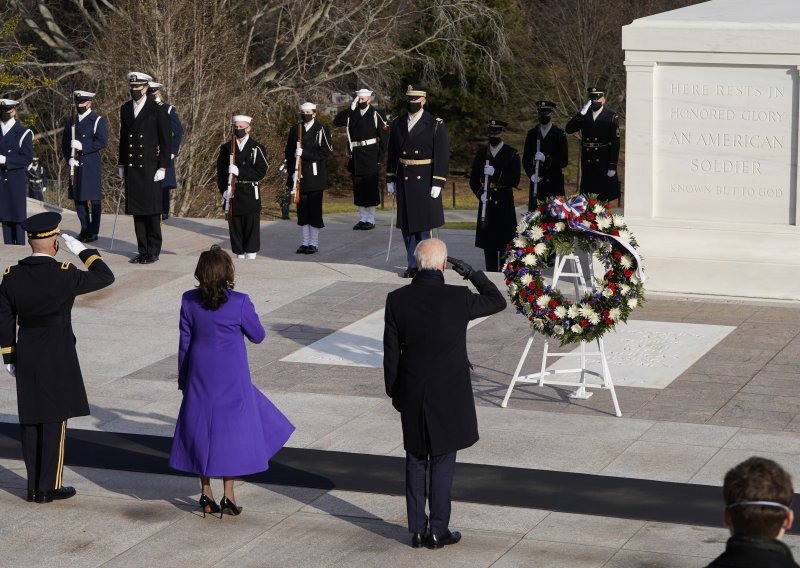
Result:
{"type": "Polygon", "coordinates": [[[199,285],[183,294],[178,388],[183,392],[169,465],[200,476],[205,513],[238,515],[235,476],[264,471],[294,426],[250,382],[244,337],[266,332],[247,294],[233,291],[233,262],[219,246],[200,255],[199,285]],[[219,505],[212,477],[222,477],[219,505]],[[220,511],[221,509],[221,511],[220,511]]]}

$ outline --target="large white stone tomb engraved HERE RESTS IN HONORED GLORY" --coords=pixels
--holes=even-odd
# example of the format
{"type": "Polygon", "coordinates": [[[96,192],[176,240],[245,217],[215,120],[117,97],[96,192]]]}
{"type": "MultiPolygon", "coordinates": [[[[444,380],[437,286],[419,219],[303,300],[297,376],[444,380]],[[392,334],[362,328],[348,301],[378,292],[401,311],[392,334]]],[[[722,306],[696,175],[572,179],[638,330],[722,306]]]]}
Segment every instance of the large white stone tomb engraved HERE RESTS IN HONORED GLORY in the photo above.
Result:
{"type": "Polygon", "coordinates": [[[625,217],[649,290],[800,299],[800,0],[622,29],[625,217]]]}

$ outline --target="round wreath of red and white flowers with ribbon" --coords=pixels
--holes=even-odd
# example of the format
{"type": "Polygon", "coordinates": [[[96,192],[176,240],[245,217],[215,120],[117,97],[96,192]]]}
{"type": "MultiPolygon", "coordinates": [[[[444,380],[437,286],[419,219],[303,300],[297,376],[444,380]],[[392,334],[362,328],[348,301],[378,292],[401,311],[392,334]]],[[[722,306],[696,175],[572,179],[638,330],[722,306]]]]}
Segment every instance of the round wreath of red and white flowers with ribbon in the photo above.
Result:
{"type": "Polygon", "coordinates": [[[639,259],[620,241],[634,250],[638,247],[622,216],[595,195],[540,202],[522,216],[514,240],[506,246],[503,272],[517,312],[528,318],[532,329],[561,345],[592,341],[625,322],[644,301],[644,284],[637,271],[639,259]],[[542,268],[551,253],[570,254],[576,248],[598,259],[605,273],[595,279],[591,292],[573,301],[545,284],[542,268]]]}

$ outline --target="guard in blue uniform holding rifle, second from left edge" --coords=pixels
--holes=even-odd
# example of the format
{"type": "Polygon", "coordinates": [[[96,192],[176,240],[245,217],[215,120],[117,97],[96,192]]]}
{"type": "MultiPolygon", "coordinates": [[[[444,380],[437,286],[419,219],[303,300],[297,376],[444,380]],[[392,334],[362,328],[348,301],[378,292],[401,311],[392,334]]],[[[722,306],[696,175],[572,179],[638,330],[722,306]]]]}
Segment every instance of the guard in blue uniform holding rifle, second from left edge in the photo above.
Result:
{"type": "Polygon", "coordinates": [[[100,150],[108,146],[106,120],[92,110],[95,93],[75,91],[75,135],[72,133],[72,115],[64,123],[61,137],[61,154],[75,171],[76,183],[70,180],[70,194],[75,201],[75,211],[81,222],[78,240],[91,243],[100,233],[100,150]],[[74,151],[74,152],[73,152],[74,151]],[[74,158],[73,158],[74,154],[74,158]]]}

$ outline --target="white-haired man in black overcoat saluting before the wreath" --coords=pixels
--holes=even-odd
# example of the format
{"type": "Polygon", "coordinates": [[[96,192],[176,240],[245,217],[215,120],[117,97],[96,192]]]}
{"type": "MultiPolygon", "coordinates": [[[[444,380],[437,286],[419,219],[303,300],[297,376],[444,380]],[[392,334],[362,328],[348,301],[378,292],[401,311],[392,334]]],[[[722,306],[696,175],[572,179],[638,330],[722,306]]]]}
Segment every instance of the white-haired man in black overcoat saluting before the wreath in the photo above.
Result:
{"type": "Polygon", "coordinates": [[[411,284],[386,298],[383,376],[403,425],[411,545],[440,548],[461,538],[448,528],[456,452],[478,441],[467,324],[502,311],[506,301],[485,274],[460,260],[450,259],[453,269],[478,293],[445,284],[447,247],[442,241],[426,239],[414,254],[419,270],[411,284]]]}

